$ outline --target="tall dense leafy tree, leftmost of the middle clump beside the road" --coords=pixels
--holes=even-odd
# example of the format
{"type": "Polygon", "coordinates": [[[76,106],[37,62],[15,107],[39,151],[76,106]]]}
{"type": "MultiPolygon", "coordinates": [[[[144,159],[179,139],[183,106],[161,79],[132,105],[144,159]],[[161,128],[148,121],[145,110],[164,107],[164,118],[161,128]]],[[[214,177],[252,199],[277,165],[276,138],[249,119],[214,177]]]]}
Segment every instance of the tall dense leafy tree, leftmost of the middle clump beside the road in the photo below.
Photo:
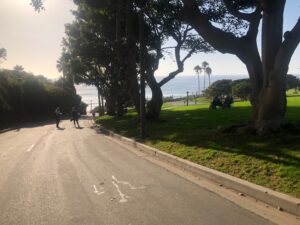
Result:
{"type": "Polygon", "coordinates": [[[116,41],[116,3],[81,0],[76,4],[75,21],[66,25],[59,68],[75,83],[95,85],[106,99],[107,112],[121,115],[128,94],[121,64],[124,48],[116,41]]]}

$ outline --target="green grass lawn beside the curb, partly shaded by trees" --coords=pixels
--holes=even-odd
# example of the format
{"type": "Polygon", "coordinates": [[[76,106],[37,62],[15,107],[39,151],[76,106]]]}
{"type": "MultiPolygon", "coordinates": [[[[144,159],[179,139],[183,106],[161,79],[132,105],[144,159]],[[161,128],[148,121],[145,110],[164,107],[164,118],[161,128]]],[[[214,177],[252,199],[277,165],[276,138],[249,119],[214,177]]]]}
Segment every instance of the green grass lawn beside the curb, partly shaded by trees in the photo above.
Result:
{"type": "MultiPolygon", "coordinates": [[[[224,134],[219,127],[244,123],[249,102],[231,109],[208,104],[165,108],[161,122],[147,124],[145,143],[221,172],[300,197],[300,134],[257,137],[224,134]]],[[[288,121],[300,124],[300,96],[288,97],[288,121]]],[[[105,116],[97,123],[127,137],[138,137],[135,113],[121,119],[105,116]]]]}

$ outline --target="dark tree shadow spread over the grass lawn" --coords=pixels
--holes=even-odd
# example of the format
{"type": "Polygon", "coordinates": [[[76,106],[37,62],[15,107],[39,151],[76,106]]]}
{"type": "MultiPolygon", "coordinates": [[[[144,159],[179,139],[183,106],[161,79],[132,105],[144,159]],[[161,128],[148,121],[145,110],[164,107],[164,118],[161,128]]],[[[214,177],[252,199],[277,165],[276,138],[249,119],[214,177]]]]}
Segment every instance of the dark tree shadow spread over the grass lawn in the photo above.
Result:
{"type": "MultiPolygon", "coordinates": [[[[299,123],[300,118],[296,116],[299,114],[300,108],[290,107],[287,118],[299,123]]],[[[151,124],[149,132],[153,135],[149,139],[154,144],[159,141],[174,141],[189,147],[241,154],[272,163],[300,167],[299,134],[257,137],[223,134],[217,131],[220,126],[245,123],[249,115],[249,107],[227,110],[166,110],[162,116],[167,120],[167,124],[159,125],[160,128],[151,124]]]]}

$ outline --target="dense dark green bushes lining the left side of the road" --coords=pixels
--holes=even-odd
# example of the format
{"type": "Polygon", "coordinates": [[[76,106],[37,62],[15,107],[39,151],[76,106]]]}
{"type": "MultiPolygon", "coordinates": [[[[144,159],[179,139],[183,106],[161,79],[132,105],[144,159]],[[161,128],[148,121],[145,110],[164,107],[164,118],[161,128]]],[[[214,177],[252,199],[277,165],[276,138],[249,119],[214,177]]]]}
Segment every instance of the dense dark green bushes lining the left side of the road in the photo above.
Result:
{"type": "Polygon", "coordinates": [[[85,107],[75,88],[65,79],[52,82],[44,76],[34,76],[24,71],[0,71],[0,123],[17,123],[37,119],[54,118],[59,106],[64,114],[72,106],[85,107]]]}

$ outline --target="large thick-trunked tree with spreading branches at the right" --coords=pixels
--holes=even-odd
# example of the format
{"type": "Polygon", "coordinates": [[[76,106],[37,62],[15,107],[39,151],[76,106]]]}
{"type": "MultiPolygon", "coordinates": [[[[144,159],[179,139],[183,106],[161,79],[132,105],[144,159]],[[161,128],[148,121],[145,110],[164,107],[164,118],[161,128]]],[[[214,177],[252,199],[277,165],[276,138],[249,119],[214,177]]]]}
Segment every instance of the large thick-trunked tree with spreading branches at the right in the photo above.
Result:
{"type": "Polygon", "coordinates": [[[234,54],[246,65],[252,86],[251,126],[261,134],[281,130],[286,124],[286,74],[300,41],[300,19],[292,30],[283,34],[286,1],[182,0],[182,3],[184,21],[216,50],[234,54]],[[261,52],[257,45],[260,23],[261,52]]]}

